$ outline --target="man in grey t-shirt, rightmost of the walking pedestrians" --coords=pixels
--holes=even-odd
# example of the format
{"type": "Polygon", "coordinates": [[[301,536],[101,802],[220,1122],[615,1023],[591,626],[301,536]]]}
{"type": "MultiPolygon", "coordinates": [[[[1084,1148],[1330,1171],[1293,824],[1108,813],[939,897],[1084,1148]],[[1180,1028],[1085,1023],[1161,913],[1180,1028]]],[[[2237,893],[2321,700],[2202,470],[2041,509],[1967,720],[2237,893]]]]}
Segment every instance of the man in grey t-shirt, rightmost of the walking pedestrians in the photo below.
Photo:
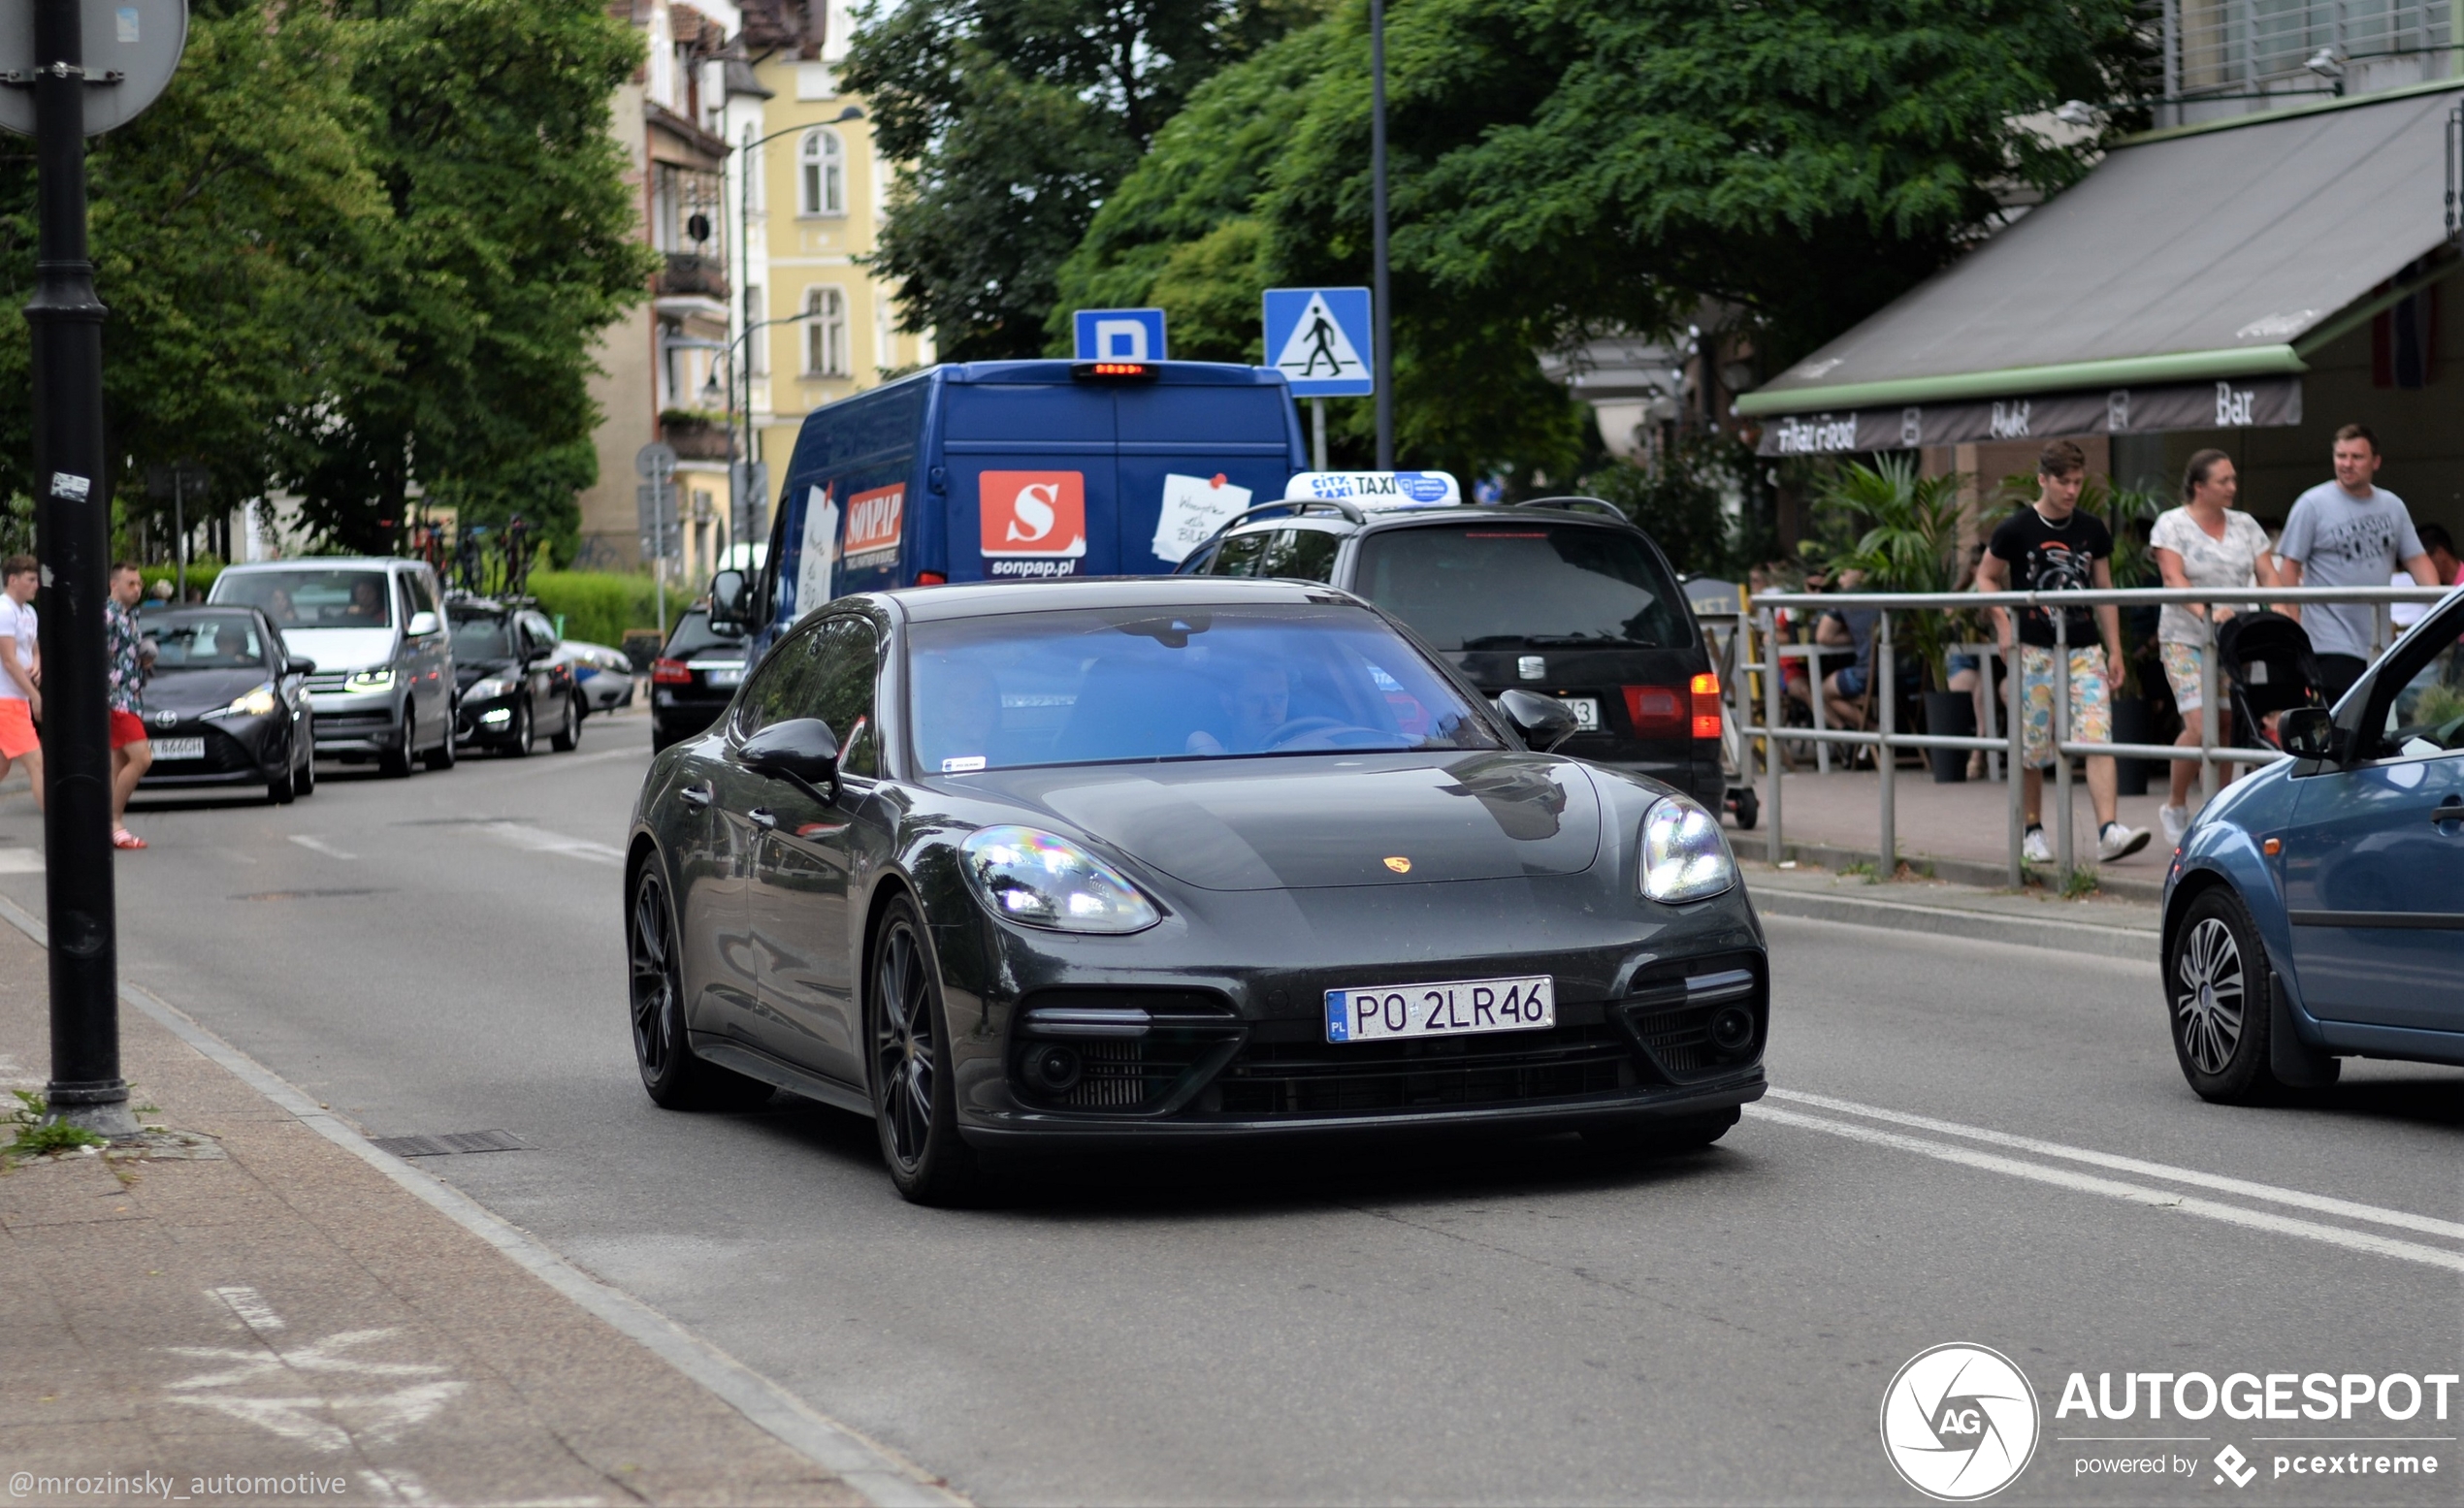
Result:
{"type": "MultiPolygon", "coordinates": [[[[2378,466],[2378,436],[2361,424],[2336,431],[2336,480],[2301,493],[2277,540],[2287,586],[2385,586],[2397,564],[2422,586],[2439,584],[2405,500],[2370,483],[2378,466]]],[[[2319,655],[2319,690],[2336,702],[2370,668],[2378,609],[2365,601],[2321,601],[2284,611],[2309,628],[2319,655]]]]}

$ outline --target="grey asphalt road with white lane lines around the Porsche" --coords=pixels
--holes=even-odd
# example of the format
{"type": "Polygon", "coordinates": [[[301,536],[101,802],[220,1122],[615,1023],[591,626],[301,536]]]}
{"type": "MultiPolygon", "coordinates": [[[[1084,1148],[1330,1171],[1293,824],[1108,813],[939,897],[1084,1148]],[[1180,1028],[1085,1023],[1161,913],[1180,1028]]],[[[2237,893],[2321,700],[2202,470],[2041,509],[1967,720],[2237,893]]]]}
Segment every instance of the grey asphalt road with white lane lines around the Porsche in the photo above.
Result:
{"type": "MultiPolygon", "coordinates": [[[[424,1165],[986,1503],[1912,1503],[1878,1409],[1947,1340],[2045,1402],[2006,1501],[2240,1496],[2227,1444],[2252,1498],[2457,1501],[2464,1390],[2400,1424],[2055,1400],[2070,1372],[2464,1370],[2459,1072],[2205,1106],[2151,963],[1772,919],[1779,1094],[1712,1151],[1129,1158],[917,1210],[867,1121],[643,1099],[616,860],[646,761],[636,715],[579,754],[133,813],[123,973],[375,1136],[513,1131],[532,1151],[424,1165]],[[2442,1471],[2277,1481],[2336,1449],[2284,1437],[2444,1437],[2348,1446],[2442,1471]],[[2198,1469],[2082,1476],[2168,1451],[2198,1469]]],[[[12,781],[0,892],[39,914],[25,848],[12,781]]]]}

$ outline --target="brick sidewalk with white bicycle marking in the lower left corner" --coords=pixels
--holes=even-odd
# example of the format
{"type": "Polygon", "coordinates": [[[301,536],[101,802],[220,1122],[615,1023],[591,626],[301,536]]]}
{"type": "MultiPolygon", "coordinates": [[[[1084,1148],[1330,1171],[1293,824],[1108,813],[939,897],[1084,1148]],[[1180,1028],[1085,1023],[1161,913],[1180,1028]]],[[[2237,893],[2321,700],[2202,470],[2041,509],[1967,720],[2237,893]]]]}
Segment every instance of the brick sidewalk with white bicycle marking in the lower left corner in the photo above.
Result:
{"type": "MultiPolygon", "coordinates": [[[[44,976],[0,924],[0,1089],[44,976]]],[[[0,1175],[0,1506],[956,1501],[185,1018],[121,1042],[170,1136],[0,1175]]]]}

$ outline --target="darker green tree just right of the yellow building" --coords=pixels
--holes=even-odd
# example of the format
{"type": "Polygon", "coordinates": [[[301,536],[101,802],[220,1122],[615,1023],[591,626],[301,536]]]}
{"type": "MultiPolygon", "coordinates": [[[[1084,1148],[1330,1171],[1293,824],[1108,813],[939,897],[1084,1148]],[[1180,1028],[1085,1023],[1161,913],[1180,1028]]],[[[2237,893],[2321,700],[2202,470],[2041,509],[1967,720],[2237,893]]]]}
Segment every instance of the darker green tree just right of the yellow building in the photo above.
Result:
{"type": "MultiPolygon", "coordinates": [[[[875,266],[951,360],[1045,350],[1055,274],[1114,182],[1313,0],[907,0],[860,12],[845,84],[902,163],[875,266]]],[[[1175,333],[1178,340],[1178,333],[1175,333]]]]}

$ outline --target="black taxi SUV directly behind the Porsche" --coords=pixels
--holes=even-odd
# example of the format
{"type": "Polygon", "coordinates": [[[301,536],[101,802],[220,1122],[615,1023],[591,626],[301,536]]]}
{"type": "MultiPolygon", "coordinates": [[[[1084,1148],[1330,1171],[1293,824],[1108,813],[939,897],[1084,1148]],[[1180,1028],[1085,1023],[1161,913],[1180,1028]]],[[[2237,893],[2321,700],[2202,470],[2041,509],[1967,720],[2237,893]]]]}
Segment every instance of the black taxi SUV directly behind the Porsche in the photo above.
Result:
{"type": "Polygon", "coordinates": [[[1262,503],[1193,549],[1180,574],[1343,586],[1402,618],[1488,697],[1523,687],[1562,700],[1579,729],[1565,754],[1722,808],[1710,648],[1668,557],[1609,503],[1262,503]]]}

